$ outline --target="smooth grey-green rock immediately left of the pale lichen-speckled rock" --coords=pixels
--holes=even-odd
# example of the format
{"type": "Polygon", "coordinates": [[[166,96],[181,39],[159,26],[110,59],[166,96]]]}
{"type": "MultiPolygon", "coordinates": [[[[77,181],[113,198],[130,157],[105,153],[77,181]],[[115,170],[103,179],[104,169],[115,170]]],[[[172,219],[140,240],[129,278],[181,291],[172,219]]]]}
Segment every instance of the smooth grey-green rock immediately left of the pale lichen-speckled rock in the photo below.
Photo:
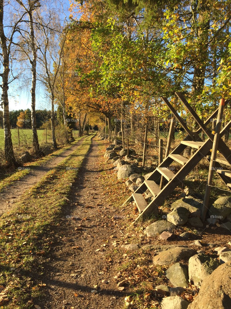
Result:
{"type": "Polygon", "coordinates": [[[166,277],[174,286],[188,287],[188,269],[181,263],[169,267],[166,277]]]}

